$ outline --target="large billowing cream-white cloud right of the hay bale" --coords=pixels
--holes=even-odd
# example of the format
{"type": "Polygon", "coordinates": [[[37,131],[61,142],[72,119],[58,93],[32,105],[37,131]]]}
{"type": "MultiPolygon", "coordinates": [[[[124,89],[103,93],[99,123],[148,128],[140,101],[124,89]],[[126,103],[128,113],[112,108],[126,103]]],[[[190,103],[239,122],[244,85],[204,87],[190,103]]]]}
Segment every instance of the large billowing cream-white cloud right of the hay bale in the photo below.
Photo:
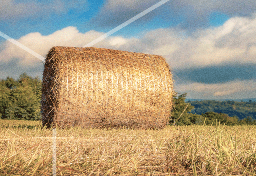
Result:
{"type": "Polygon", "coordinates": [[[220,27],[196,30],[190,36],[182,33],[154,30],[144,41],[152,39],[148,42],[151,51],[165,56],[174,68],[256,63],[256,16],[230,18],[220,27]]]}

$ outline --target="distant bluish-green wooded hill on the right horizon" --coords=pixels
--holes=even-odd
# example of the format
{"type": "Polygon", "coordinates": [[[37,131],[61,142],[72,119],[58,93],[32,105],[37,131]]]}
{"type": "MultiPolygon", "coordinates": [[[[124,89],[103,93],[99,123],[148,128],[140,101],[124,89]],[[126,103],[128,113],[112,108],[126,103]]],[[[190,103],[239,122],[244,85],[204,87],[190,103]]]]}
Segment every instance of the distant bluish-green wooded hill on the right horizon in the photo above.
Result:
{"type": "Polygon", "coordinates": [[[248,116],[256,119],[256,98],[242,99],[242,101],[226,100],[196,100],[187,99],[195,108],[191,111],[192,114],[205,114],[206,112],[217,112],[228,114],[228,116],[237,116],[239,119],[244,119],[248,116]],[[250,101],[251,100],[251,101],[250,101]]]}

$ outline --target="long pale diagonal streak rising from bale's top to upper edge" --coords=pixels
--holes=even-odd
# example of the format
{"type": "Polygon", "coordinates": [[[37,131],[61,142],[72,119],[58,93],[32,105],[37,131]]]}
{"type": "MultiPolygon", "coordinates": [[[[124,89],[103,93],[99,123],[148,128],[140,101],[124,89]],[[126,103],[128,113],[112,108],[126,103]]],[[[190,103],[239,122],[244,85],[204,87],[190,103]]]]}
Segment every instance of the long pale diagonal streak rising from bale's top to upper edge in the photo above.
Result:
{"type": "Polygon", "coordinates": [[[138,20],[138,18],[146,15],[147,13],[151,12],[152,10],[158,8],[159,6],[161,6],[162,4],[168,2],[169,0],[161,0],[160,2],[154,4],[153,6],[151,6],[150,8],[144,10],[143,12],[140,12],[138,15],[132,17],[130,20],[127,20],[126,22],[120,24],[119,26],[117,26],[116,28],[110,30],[109,32],[107,32],[106,34],[103,34],[102,36],[96,38],[95,40],[93,40],[92,42],[86,44],[83,47],[90,47],[93,46],[94,44],[100,42],[101,40],[107,38],[108,36],[110,36],[111,34],[113,34],[114,32],[124,28],[125,26],[127,26],[128,24],[134,22],[135,20],[138,20]]]}

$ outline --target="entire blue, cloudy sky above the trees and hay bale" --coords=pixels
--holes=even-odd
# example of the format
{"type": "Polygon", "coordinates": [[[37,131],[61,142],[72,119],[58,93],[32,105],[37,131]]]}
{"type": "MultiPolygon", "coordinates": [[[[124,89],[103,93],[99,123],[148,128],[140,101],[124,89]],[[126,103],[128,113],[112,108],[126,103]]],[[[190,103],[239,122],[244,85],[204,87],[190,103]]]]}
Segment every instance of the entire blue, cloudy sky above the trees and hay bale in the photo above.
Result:
{"type": "MultiPolygon", "coordinates": [[[[160,0],[0,0],[0,32],[41,56],[83,47],[160,0]]],[[[166,58],[186,98],[256,98],[256,1],[170,0],[93,45],[166,58]]],[[[0,36],[0,79],[44,62],[0,36]]]]}

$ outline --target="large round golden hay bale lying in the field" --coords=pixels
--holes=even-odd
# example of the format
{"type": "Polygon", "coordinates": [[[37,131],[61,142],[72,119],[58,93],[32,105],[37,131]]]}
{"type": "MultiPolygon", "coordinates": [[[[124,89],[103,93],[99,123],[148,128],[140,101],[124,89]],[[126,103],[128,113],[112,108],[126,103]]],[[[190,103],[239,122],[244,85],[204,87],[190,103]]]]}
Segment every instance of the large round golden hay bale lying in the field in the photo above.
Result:
{"type": "Polygon", "coordinates": [[[53,47],[42,84],[47,127],[162,128],[173,105],[170,68],[157,55],[53,47]]]}

